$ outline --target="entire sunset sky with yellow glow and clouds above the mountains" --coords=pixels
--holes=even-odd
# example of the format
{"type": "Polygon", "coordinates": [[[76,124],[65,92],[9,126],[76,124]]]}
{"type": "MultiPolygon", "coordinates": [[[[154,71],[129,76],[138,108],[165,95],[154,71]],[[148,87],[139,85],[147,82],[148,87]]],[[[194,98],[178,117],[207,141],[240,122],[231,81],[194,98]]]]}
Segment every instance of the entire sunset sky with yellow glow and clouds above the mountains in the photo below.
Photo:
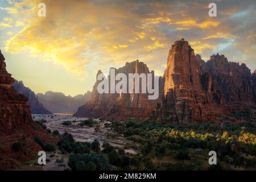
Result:
{"type": "Polygon", "coordinates": [[[256,2],[0,0],[0,49],[7,71],[35,93],[75,96],[92,90],[99,69],[139,60],[156,75],[181,38],[209,60],[213,53],[256,69],[256,2]],[[38,16],[38,4],[46,16],[38,16]],[[209,3],[217,16],[208,15],[209,3]]]}

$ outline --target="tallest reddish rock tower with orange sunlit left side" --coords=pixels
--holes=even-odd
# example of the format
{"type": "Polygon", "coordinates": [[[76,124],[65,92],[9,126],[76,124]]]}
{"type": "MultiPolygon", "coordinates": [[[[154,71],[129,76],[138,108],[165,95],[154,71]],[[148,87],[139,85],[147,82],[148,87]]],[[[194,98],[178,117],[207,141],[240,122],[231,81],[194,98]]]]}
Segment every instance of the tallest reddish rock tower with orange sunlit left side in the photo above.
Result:
{"type": "Polygon", "coordinates": [[[154,119],[166,118],[183,125],[209,121],[214,117],[216,111],[210,106],[211,79],[209,75],[203,75],[203,64],[187,41],[176,41],[172,45],[163,76],[162,107],[154,111],[154,119]]]}

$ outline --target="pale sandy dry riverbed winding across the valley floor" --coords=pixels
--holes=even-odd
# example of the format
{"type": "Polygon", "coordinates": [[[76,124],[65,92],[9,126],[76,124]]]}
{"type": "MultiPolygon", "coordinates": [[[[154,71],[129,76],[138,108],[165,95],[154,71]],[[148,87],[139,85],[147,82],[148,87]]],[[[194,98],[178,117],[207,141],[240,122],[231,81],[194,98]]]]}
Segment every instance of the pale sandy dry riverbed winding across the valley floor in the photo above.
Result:
{"type": "MultiPolygon", "coordinates": [[[[60,134],[63,134],[65,131],[73,135],[73,138],[77,142],[93,142],[94,139],[97,139],[101,145],[104,142],[108,142],[112,146],[123,148],[125,144],[132,144],[129,140],[126,140],[124,137],[117,133],[112,133],[110,129],[105,128],[105,123],[110,123],[109,121],[99,121],[94,119],[94,121],[98,122],[98,130],[95,131],[96,125],[89,126],[80,126],[79,123],[88,118],[77,118],[73,117],[71,114],[51,114],[51,115],[40,115],[40,114],[32,114],[34,121],[40,121],[42,119],[46,120],[44,123],[47,126],[47,129],[58,130],[60,134]],[[64,126],[62,123],[64,121],[71,121],[71,125],[64,126]],[[111,135],[113,137],[107,137],[111,135]]],[[[137,154],[137,152],[133,149],[125,149],[126,152],[130,154],[137,154]]],[[[65,169],[70,169],[68,167],[68,154],[61,154],[59,150],[55,152],[47,152],[47,159],[49,160],[43,169],[46,171],[62,171],[65,169]],[[56,159],[63,158],[63,162],[57,163],[56,159]]]]}

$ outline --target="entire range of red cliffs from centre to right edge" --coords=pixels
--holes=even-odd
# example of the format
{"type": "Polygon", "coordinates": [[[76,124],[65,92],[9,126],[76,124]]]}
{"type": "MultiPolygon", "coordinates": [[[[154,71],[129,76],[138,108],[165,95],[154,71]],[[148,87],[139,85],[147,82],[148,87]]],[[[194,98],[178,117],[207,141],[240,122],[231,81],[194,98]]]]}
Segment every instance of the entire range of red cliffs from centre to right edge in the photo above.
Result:
{"type": "MultiPolygon", "coordinates": [[[[116,69],[116,73],[136,72],[149,71],[138,61],[116,69]]],[[[170,49],[166,71],[159,79],[158,100],[147,100],[143,94],[99,94],[97,81],[92,97],[75,115],[117,120],[162,118],[179,125],[214,121],[234,109],[245,110],[255,105],[255,75],[245,64],[229,62],[224,55],[212,55],[205,63],[181,39],[170,49]]]]}

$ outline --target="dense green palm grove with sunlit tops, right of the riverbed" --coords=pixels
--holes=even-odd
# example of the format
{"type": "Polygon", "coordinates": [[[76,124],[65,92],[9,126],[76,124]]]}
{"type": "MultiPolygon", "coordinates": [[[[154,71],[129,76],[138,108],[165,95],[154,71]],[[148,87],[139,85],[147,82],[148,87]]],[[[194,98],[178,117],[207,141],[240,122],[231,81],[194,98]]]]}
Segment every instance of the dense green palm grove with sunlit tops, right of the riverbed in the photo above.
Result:
{"type": "MultiPolygon", "coordinates": [[[[110,127],[138,146],[139,154],[133,157],[137,165],[130,166],[131,169],[256,169],[256,126],[253,123],[180,127],[164,125],[162,121],[127,119],[112,122],[110,127]],[[217,152],[218,165],[214,167],[208,163],[208,152],[212,150],[217,152]]],[[[110,154],[110,162],[117,158],[115,155],[115,152],[110,154]]]]}

